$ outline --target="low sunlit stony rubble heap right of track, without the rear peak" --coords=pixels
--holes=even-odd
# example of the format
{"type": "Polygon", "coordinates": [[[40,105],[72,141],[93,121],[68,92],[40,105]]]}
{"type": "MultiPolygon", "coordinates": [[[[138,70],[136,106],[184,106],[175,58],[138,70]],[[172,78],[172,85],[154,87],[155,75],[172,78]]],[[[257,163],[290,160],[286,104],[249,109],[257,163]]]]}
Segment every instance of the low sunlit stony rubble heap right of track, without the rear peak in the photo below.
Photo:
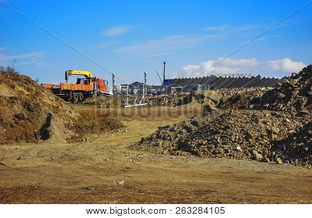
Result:
{"type": "MultiPolygon", "coordinates": [[[[300,118],[275,111],[212,111],[209,116],[160,127],[132,145],[132,149],[282,163],[288,159],[276,151],[273,153],[272,146],[275,141],[287,138],[289,132],[299,130],[301,123],[300,118]]],[[[309,154],[304,155],[309,158],[309,154]]],[[[300,161],[297,165],[311,167],[311,163],[300,161]]]]}

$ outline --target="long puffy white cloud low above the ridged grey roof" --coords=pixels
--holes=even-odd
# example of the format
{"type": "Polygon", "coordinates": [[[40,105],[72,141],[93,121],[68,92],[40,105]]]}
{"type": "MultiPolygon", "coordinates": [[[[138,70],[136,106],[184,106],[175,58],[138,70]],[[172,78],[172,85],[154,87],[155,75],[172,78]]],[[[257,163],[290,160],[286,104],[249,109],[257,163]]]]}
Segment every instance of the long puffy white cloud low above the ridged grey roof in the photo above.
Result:
{"type": "Polygon", "coordinates": [[[260,62],[255,58],[226,58],[225,60],[222,60],[223,58],[220,57],[217,60],[207,60],[206,62],[200,62],[200,64],[188,64],[182,66],[182,71],[179,73],[179,76],[196,77],[218,73],[271,73],[270,76],[276,76],[281,75],[281,73],[287,75],[291,72],[299,72],[304,66],[306,66],[303,62],[293,62],[288,57],[268,62],[260,62]]]}

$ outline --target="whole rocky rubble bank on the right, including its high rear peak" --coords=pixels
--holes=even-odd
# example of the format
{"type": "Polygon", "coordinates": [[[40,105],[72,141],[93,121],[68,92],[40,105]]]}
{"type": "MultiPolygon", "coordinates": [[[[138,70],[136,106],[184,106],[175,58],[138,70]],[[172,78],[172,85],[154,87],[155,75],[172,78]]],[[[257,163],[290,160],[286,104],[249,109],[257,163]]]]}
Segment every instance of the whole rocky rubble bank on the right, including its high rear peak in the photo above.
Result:
{"type": "Polygon", "coordinates": [[[130,148],[311,168],[311,72],[307,66],[275,89],[231,90],[220,102],[207,101],[204,115],[159,127],[130,148]]]}

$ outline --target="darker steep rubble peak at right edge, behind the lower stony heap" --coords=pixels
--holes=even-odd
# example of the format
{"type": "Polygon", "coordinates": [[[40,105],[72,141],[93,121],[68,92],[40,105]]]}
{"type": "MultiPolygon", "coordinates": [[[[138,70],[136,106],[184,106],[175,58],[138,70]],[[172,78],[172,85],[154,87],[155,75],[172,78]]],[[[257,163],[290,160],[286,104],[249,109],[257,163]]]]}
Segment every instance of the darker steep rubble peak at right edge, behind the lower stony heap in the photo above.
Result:
{"type": "Polygon", "coordinates": [[[306,66],[300,73],[293,73],[262,96],[261,106],[271,110],[311,113],[311,77],[312,65],[306,66]]]}

